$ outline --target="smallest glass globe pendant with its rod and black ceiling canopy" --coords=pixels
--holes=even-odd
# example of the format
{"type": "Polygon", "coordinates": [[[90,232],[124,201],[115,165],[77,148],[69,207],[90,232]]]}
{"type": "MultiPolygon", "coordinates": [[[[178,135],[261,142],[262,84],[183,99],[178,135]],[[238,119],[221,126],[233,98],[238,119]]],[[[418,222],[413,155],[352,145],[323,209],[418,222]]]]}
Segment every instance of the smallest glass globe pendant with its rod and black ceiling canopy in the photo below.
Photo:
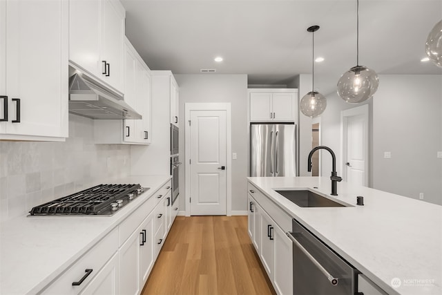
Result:
{"type": "Polygon", "coordinates": [[[300,110],[307,117],[317,117],[322,114],[327,106],[327,99],[324,95],[318,93],[318,91],[314,91],[314,82],[315,82],[315,38],[314,32],[319,30],[319,26],[311,26],[307,28],[307,32],[311,32],[312,36],[312,70],[311,70],[311,91],[304,95],[300,102],[300,110]]]}

